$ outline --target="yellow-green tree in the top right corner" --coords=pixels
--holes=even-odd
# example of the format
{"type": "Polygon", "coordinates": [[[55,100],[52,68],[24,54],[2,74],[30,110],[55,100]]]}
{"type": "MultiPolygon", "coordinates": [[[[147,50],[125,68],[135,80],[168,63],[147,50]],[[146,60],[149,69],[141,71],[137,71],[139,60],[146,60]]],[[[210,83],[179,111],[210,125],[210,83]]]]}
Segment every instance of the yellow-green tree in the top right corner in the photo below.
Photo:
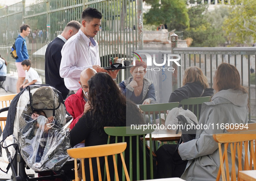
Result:
{"type": "Polygon", "coordinates": [[[231,46],[252,46],[256,41],[256,0],[231,0],[223,29],[231,46]]]}

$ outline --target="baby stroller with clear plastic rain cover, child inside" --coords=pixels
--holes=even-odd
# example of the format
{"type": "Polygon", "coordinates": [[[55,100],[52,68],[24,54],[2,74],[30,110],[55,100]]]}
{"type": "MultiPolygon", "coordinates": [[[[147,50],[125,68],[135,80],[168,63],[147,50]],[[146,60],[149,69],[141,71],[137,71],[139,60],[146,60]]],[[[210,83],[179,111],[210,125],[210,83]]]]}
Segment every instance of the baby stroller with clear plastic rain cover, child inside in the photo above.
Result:
{"type": "Polygon", "coordinates": [[[74,162],[67,162],[70,158],[66,150],[71,146],[65,115],[62,96],[53,87],[28,86],[14,97],[0,138],[2,148],[10,154],[10,164],[15,159],[19,162],[18,174],[13,180],[61,178],[70,181],[74,178],[74,162]],[[27,167],[40,173],[54,171],[55,175],[29,178],[25,172],[27,167]]]}

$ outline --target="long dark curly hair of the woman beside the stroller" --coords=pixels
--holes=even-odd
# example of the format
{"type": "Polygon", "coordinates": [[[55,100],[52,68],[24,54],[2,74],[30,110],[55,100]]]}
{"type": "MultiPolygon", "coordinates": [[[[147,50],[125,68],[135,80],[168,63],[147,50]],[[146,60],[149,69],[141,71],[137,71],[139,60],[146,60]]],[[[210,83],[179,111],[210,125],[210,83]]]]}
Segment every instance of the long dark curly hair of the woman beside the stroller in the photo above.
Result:
{"type": "Polygon", "coordinates": [[[85,114],[90,115],[90,122],[97,130],[102,132],[104,126],[125,125],[126,98],[110,75],[97,73],[88,81],[88,85],[91,109],[85,114]]]}

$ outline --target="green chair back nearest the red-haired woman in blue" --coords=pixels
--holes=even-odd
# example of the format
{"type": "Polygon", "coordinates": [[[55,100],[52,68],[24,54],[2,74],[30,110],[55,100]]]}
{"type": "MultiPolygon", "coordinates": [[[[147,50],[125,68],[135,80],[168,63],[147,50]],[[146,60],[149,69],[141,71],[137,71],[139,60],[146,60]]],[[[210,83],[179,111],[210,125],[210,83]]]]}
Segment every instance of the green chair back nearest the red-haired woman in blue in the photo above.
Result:
{"type": "Polygon", "coordinates": [[[146,115],[152,118],[152,123],[156,124],[156,116],[159,115],[159,125],[161,125],[161,113],[165,115],[166,119],[166,111],[171,110],[172,108],[178,107],[179,103],[159,103],[159,104],[144,104],[139,105],[139,109],[143,111],[144,121],[146,122],[146,115]],[[152,115],[152,116],[151,116],[152,115]]]}

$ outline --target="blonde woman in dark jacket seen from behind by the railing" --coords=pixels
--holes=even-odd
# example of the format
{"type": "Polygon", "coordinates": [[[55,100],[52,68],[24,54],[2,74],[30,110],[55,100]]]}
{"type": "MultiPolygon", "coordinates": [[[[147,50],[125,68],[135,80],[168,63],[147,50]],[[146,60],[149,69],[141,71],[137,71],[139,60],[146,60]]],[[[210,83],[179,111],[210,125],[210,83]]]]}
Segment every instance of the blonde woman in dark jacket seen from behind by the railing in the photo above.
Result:
{"type": "Polygon", "coordinates": [[[206,76],[196,66],[185,69],[182,85],[171,94],[169,103],[180,102],[189,97],[204,97],[214,94],[213,89],[209,88],[206,76]]]}

